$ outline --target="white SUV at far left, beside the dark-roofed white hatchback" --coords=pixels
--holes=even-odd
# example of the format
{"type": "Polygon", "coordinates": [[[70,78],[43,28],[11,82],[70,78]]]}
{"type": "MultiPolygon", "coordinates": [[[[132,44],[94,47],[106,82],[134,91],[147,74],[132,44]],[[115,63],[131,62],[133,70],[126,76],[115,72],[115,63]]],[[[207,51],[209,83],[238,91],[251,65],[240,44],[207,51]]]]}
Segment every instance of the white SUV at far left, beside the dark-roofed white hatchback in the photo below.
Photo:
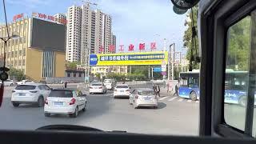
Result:
{"type": "Polygon", "coordinates": [[[14,107],[21,103],[36,103],[41,107],[49,94],[50,87],[41,83],[19,85],[12,90],[11,102],[14,107]]]}

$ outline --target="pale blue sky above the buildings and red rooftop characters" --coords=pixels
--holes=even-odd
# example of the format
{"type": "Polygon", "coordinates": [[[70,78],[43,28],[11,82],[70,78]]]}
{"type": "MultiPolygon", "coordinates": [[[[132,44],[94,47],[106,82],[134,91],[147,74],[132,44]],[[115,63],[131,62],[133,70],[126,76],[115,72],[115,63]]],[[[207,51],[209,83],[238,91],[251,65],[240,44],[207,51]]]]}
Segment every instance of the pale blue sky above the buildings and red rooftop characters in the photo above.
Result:
{"type": "MultiPolygon", "coordinates": [[[[86,1],[86,0],[85,0],[86,1]]],[[[2,2],[2,1],[1,1],[2,2]]],[[[176,50],[182,49],[182,37],[186,27],[186,14],[174,14],[170,0],[90,0],[98,3],[97,8],[112,16],[112,29],[117,36],[117,47],[134,44],[138,50],[140,42],[146,43],[150,50],[150,42],[157,42],[158,50],[162,50],[163,39],[167,46],[175,42],[176,50]]],[[[66,13],[69,6],[82,5],[82,0],[6,0],[8,22],[15,14],[24,13],[30,16],[32,12],[54,15],[66,13]]],[[[3,11],[2,4],[0,10],[3,11]]],[[[95,6],[94,6],[95,8],[95,6]]],[[[0,22],[4,22],[0,13],[0,22]]]]}

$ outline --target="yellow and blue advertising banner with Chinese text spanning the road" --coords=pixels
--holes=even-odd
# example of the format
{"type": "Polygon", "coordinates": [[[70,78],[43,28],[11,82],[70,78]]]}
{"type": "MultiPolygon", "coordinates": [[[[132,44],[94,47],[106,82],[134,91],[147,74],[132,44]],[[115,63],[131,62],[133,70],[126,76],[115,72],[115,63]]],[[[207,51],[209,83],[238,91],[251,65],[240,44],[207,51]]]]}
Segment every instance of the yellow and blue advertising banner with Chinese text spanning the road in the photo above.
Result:
{"type": "Polygon", "coordinates": [[[132,65],[162,65],[167,63],[168,54],[163,51],[90,54],[90,66],[132,66],[132,65]]]}

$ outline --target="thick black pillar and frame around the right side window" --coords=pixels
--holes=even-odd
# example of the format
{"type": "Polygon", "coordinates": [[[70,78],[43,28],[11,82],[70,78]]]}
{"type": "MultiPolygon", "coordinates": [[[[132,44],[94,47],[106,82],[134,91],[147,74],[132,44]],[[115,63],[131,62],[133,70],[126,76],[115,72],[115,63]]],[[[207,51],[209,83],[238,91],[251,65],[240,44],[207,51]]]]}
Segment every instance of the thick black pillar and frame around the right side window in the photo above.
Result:
{"type": "Polygon", "coordinates": [[[200,5],[198,35],[200,42],[200,136],[251,138],[242,130],[226,125],[224,98],[226,72],[226,32],[229,26],[255,10],[254,1],[214,1],[200,5]],[[200,8],[202,7],[202,10],[200,8]]]}

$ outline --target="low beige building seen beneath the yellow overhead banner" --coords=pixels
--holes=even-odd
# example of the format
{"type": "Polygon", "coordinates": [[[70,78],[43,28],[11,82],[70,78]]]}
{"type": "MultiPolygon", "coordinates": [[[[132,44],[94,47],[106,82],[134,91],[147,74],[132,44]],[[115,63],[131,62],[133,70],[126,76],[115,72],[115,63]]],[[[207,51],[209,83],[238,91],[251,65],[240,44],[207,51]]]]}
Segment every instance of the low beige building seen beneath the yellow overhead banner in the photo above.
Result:
{"type": "Polygon", "coordinates": [[[92,74],[102,74],[106,76],[109,73],[128,74],[128,66],[91,66],[92,74]]]}

